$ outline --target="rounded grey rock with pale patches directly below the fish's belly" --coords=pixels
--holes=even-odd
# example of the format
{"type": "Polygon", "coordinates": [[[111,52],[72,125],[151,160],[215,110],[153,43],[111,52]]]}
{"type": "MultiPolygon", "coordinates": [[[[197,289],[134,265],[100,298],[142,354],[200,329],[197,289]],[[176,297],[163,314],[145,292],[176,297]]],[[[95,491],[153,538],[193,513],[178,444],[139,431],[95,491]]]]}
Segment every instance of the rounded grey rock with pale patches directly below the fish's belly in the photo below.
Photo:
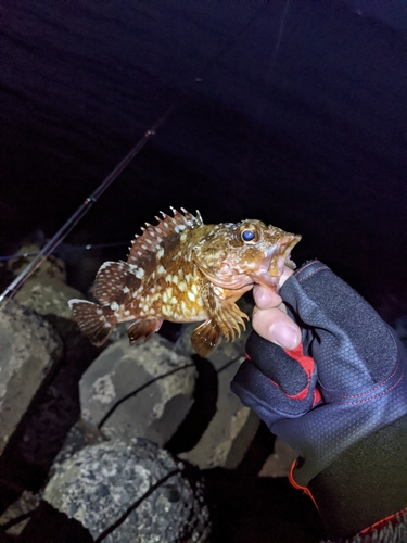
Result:
{"type": "Polygon", "coordinates": [[[132,346],[124,338],[103,351],[84,374],[79,383],[82,418],[100,425],[109,438],[142,437],[163,445],[188,414],[194,383],[191,358],[169,341],[154,334],[132,346]],[[173,374],[158,378],[167,372],[173,374]]]}

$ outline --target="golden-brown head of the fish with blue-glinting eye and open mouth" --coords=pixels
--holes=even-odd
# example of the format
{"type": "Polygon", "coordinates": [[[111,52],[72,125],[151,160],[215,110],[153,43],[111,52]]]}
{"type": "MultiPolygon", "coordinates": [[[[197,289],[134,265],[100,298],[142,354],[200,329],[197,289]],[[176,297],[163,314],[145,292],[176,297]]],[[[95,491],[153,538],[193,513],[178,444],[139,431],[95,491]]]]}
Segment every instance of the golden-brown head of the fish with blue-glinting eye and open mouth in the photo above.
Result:
{"type": "Polygon", "coordinates": [[[204,276],[218,287],[241,289],[258,283],[277,290],[284,266],[294,265],[290,256],[301,240],[298,235],[256,219],[208,227],[193,248],[193,257],[204,276]]]}

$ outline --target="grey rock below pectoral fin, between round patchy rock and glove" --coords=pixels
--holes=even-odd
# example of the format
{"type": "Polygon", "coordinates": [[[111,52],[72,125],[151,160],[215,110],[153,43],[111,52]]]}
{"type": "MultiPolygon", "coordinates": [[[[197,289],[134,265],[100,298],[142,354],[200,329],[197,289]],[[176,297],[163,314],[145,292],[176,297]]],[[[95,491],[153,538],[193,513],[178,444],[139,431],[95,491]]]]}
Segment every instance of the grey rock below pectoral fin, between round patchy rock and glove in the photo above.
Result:
{"type": "MultiPolygon", "coordinates": [[[[246,314],[251,314],[252,305],[244,300],[239,302],[246,314]]],[[[196,325],[186,326],[179,344],[193,352],[190,337],[196,325]]],[[[259,419],[257,415],[244,407],[230,390],[230,381],[244,359],[245,343],[252,328],[247,329],[233,341],[222,341],[207,361],[218,376],[218,399],[216,413],[203,433],[199,443],[179,456],[201,469],[213,467],[234,468],[243,459],[253,438],[259,419]]]]}

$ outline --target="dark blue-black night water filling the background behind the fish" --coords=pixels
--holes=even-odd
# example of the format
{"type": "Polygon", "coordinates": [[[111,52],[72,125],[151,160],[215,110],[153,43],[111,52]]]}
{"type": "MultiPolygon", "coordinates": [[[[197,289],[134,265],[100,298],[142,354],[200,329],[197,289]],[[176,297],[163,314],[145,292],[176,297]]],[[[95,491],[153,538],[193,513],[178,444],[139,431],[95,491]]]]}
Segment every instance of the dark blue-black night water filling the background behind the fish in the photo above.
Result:
{"type": "Polygon", "coordinates": [[[405,311],[403,2],[2,10],[3,252],[38,227],[53,236],[179,100],[68,242],[129,241],[169,205],[260,218],[303,235],[298,263],[318,256],[405,311]]]}

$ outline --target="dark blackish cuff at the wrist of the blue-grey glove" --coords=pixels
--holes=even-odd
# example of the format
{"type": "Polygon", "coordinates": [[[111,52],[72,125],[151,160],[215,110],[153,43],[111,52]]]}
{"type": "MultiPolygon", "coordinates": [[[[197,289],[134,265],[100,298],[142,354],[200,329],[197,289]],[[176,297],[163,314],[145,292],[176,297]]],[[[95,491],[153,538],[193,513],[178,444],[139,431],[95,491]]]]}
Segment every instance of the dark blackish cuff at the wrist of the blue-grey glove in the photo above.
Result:
{"type": "Polygon", "coordinates": [[[407,416],[343,451],[308,488],[332,539],[407,507],[407,416]]]}

